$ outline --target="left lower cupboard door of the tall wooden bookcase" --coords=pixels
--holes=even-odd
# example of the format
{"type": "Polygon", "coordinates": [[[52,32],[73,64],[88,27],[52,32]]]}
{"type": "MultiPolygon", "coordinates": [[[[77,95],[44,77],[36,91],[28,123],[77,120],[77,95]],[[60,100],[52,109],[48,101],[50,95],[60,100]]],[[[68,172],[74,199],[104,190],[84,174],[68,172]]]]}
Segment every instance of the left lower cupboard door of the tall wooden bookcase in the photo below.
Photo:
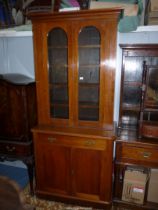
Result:
{"type": "Polygon", "coordinates": [[[52,138],[35,139],[37,192],[66,195],[69,192],[70,149],[51,141],[52,138]]]}

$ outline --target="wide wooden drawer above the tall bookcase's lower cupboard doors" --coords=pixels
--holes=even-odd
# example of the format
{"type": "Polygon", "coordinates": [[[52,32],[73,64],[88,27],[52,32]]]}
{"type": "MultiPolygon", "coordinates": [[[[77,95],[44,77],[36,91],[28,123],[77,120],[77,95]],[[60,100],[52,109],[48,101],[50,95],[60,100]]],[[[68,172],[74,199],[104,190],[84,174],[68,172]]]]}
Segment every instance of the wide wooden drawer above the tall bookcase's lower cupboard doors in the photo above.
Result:
{"type": "Polygon", "coordinates": [[[87,137],[76,137],[67,135],[57,134],[36,134],[35,143],[50,143],[50,144],[62,144],[68,147],[80,147],[80,148],[92,148],[96,150],[106,150],[109,141],[106,138],[87,138],[87,137]]]}

